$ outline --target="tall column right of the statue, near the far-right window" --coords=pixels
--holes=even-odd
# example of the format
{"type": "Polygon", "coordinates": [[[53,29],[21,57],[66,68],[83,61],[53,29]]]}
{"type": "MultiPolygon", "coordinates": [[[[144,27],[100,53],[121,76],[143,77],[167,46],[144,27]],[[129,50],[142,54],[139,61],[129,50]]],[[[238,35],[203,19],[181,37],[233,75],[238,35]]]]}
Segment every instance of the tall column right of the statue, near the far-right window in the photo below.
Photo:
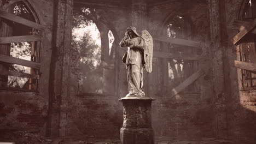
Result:
{"type": "MultiPolygon", "coordinates": [[[[219,139],[226,139],[228,137],[228,128],[227,128],[227,121],[226,121],[226,113],[225,113],[225,101],[228,97],[228,91],[230,84],[226,84],[225,86],[225,75],[224,69],[229,69],[226,67],[224,63],[224,49],[222,45],[222,35],[224,29],[221,27],[221,21],[225,21],[225,17],[223,20],[223,16],[220,17],[222,14],[220,11],[220,5],[224,4],[220,0],[208,0],[208,7],[210,10],[210,26],[211,26],[211,61],[212,61],[212,86],[214,90],[214,112],[215,112],[215,133],[216,137],[219,139]]],[[[223,10],[222,10],[223,11],[223,10]]],[[[224,15],[224,13],[223,13],[224,15]]],[[[224,37],[223,37],[224,38],[224,37]]],[[[228,63],[228,62],[226,62],[228,63]]],[[[228,74],[228,71],[226,72],[228,74]]],[[[228,80],[230,79],[227,76],[228,80]]]]}

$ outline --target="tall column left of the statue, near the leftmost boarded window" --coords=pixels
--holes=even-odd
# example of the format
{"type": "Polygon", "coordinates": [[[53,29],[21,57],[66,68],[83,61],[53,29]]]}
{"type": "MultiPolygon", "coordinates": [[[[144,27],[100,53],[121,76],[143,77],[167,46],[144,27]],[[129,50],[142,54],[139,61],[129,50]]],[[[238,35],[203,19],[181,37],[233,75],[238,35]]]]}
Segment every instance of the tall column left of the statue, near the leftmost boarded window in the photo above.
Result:
{"type": "Polygon", "coordinates": [[[73,0],[54,1],[53,52],[50,64],[49,110],[46,136],[66,135],[69,99],[69,57],[73,0]]]}

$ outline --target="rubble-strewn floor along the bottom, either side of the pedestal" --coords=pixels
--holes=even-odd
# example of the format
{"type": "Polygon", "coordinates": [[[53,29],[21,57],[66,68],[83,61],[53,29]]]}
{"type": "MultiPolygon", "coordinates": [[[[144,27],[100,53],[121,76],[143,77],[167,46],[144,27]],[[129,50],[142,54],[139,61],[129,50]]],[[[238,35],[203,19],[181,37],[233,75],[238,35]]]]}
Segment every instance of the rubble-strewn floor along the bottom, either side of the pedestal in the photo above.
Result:
{"type": "MultiPolygon", "coordinates": [[[[94,136],[69,136],[50,139],[27,131],[0,131],[0,142],[15,144],[120,144],[119,137],[98,139],[94,136]]],[[[132,143],[131,143],[132,144],[132,143]]],[[[172,137],[155,137],[155,144],[238,144],[228,140],[202,138],[200,140],[176,140],[172,137]]],[[[239,143],[241,144],[241,143],[239,143]]]]}

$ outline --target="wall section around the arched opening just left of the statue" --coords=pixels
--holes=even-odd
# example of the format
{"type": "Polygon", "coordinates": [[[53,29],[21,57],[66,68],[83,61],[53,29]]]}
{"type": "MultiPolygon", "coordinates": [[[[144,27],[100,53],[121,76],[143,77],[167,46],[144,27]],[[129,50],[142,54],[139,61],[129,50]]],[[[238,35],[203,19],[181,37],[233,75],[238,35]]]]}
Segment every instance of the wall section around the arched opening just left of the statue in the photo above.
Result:
{"type": "Polygon", "coordinates": [[[121,63],[125,49],[119,47],[126,28],[130,26],[130,12],[128,9],[97,9],[102,17],[108,21],[106,25],[114,34],[115,68],[112,77],[111,91],[113,94],[79,94],[78,80],[71,74],[70,97],[67,110],[67,135],[86,135],[94,137],[119,137],[119,130],[123,124],[123,106],[118,101],[127,91],[125,65],[121,63]],[[116,15],[116,14],[119,15],[116,15]]]}

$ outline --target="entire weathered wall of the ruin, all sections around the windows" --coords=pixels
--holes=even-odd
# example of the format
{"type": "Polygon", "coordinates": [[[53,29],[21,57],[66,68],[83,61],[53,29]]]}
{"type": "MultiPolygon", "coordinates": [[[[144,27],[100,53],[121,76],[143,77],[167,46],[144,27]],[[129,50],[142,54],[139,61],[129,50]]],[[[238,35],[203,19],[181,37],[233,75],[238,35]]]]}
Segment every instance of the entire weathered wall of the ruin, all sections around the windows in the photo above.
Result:
{"type": "MultiPolygon", "coordinates": [[[[118,99],[127,93],[125,65],[121,63],[125,49],[117,46],[115,53],[114,75],[116,78],[113,84],[115,85],[113,95],[78,95],[77,77],[71,73],[66,83],[68,89],[62,89],[63,91],[67,90],[65,99],[59,99],[60,95],[52,94],[53,99],[62,101],[62,105],[60,108],[58,105],[60,101],[56,101],[56,107],[52,109],[56,113],[56,115],[54,114],[56,119],[51,119],[47,113],[49,110],[50,56],[53,50],[51,40],[54,32],[54,2],[50,0],[30,0],[30,2],[36,9],[41,24],[46,26],[43,33],[40,61],[42,75],[40,76],[39,93],[0,91],[1,128],[22,128],[44,135],[44,128],[51,127],[45,126],[48,120],[51,121],[49,123],[54,124],[55,129],[52,130],[56,132],[55,135],[59,133],[58,129],[61,125],[63,127],[60,128],[60,131],[63,135],[118,137],[123,123],[123,106],[118,99]],[[58,119],[60,115],[58,107],[62,110],[61,116],[66,117],[65,119],[58,119]]],[[[204,58],[199,61],[199,67],[206,70],[206,74],[198,80],[200,81],[200,93],[164,97],[157,90],[160,83],[157,80],[159,73],[156,71],[160,70],[158,67],[160,62],[158,58],[153,59],[153,73],[148,75],[149,85],[145,89],[149,97],[156,99],[153,101],[152,108],[155,136],[167,136],[168,140],[200,140],[202,137],[217,137],[251,144],[256,141],[256,92],[240,91],[241,80],[238,79],[240,75],[237,73],[237,69],[232,67],[233,60],[238,60],[237,47],[229,41],[237,34],[229,27],[237,19],[242,1],[218,1],[221,5],[219,9],[218,4],[211,3],[217,7],[216,13],[214,11],[209,13],[208,9],[212,5],[207,2],[216,1],[197,1],[197,3],[184,4],[176,2],[151,5],[148,8],[148,31],[152,35],[161,34],[161,26],[172,15],[189,17],[193,30],[191,39],[201,41],[204,58]],[[214,16],[219,18],[219,23],[218,21],[213,23],[214,19],[217,19],[214,16]],[[219,26],[219,28],[211,29],[210,26],[219,26]],[[221,34],[221,37],[218,33],[221,34]],[[214,35],[217,36],[213,37],[214,35]],[[213,43],[214,41],[216,43],[213,43]],[[210,65],[212,65],[210,70],[207,70],[206,68],[210,65]],[[216,73],[217,71],[220,72],[216,73]]],[[[130,10],[131,8],[128,7],[104,11],[104,17],[109,21],[108,26],[113,32],[117,44],[124,37],[126,28],[132,25],[130,10]]],[[[63,22],[61,17],[60,21],[63,22]]],[[[59,33],[62,31],[63,29],[60,29],[59,33]]],[[[155,51],[160,51],[160,46],[155,44],[155,51]]],[[[68,46],[66,48],[68,49],[68,46]]],[[[56,58],[56,61],[60,60],[56,58]]],[[[54,74],[58,75],[57,79],[51,81],[57,81],[56,83],[60,84],[61,76],[57,74],[57,71],[58,69],[54,71],[54,74]]],[[[68,72],[68,70],[65,71],[68,72]]],[[[60,87],[59,84],[56,88],[60,87]]],[[[62,82],[62,85],[66,84],[62,82]]]]}

